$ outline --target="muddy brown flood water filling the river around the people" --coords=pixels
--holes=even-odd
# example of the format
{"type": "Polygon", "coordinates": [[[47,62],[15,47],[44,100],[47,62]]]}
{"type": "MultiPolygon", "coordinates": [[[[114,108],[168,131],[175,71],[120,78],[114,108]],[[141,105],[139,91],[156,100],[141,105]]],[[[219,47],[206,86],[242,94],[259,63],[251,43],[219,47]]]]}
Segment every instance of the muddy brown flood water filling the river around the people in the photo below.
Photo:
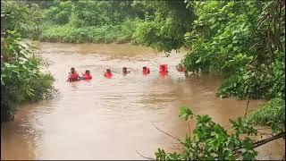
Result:
{"type": "MultiPolygon", "coordinates": [[[[152,123],[178,137],[189,131],[178,117],[182,105],[225,127],[245,112],[246,100],[215,96],[221,78],[177,72],[183,54],[166,57],[128,44],[40,43],[38,48],[51,63],[59,96],[21,106],[15,120],[2,125],[1,159],[143,159],[136,150],[154,157],[157,148],[172,151],[176,142],[152,123]],[[158,64],[168,64],[167,76],[160,77],[158,64]],[[123,66],[130,74],[122,75],[123,66]],[[143,66],[150,67],[149,75],[142,75],[143,66]],[[90,70],[93,79],[67,82],[71,67],[90,70]],[[114,72],[112,79],[103,77],[106,68],[114,72]]],[[[263,104],[251,100],[249,109],[263,104]]],[[[284,145],[273,141],[260,150],[281,157],[284,145]]]]}

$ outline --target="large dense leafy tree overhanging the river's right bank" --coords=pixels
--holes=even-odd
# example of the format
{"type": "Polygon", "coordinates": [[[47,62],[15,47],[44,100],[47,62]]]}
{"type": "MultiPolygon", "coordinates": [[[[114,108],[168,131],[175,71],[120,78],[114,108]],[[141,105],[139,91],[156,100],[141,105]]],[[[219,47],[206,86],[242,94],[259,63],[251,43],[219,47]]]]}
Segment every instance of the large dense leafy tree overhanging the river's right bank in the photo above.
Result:
{"type": "Polygon", "coordinates": [[[285,97],[285,4],[283,1],[190,2],[198,14],[186,33],[190,72],[229,77],[221,97],[285,97]]]}

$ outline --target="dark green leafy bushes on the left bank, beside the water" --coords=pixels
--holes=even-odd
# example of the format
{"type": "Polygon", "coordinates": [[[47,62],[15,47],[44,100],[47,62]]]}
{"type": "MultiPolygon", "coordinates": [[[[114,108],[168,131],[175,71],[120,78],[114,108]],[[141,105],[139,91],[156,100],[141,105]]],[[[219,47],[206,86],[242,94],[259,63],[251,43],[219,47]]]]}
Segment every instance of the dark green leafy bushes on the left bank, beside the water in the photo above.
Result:
{"type": "MultiPolygon", "coordinates": [[[[1,2],[2,4],[2,2],[1,2]]],[[[27,5],[4,2],[1,13],[3,37],[1,37],[1,123],[10,120],[15,107],[25,101],[36,101],[54,94],[54,78],[50,73],[41,72],[44,63],[21,39],[18,32],[25,29],[31,19],[22,19],[29,11],[27,5]]],[[[31,6],[31,10],[37,8],[31,6]]],[[[36,14],[36,13],[35,13],[36,14]]],[[[37,30],[36,30],[37,31],[37,30]]],[[[32,31],[31,31],[32,32],[32,31]]],[[[38,31],[37,31],[38,32],[38,31]]]]}

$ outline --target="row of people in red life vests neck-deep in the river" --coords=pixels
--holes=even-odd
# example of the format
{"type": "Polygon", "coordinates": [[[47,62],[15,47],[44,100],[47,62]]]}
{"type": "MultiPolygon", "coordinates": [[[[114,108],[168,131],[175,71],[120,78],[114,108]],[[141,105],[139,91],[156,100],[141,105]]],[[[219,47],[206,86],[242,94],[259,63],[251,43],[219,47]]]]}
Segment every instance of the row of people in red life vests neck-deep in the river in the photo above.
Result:
{"type": "MultiPolygon", "coordinates": [[[[181,69],[179,67],[178,71],[179,72],[185,72],[185,69],[181,69]]],[[[122,74],[126,75],[127,73],[130,73],[130,71],[127,71],[127,68],[123,67],[122,68],[122,74]]],[[[144,75],[147,75],[150,73],[150,69],[147,68],[146,66],[144,66],[142,73],[144,75]]],[[[168,73],[168,65],[167,64],[160,64],[159,73],[163,76],[166,75],[168,73]]],[[[106,72],[104,73],[105,78],[110,79],[113,77],[113,75],[114,74],[111,72],[110,69],[106,69],[106,72]]],[[[68,81],[91,80],[91,79],[92,79],[92,76],[91,76],[89,70],[87,70],[85,73],[82,73],[82,75],[80,76],[80,74],[78,72],[76,72],[73,67],[71,68],[71,72],[69,72],[69,76],[68,76],[68,81]]]]}

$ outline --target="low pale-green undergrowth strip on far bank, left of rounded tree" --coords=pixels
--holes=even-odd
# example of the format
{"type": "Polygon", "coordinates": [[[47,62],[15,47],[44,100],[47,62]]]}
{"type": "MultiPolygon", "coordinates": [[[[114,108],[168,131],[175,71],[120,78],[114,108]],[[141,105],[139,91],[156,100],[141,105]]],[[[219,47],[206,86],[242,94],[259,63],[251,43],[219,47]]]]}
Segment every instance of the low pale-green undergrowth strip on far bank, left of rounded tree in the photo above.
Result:
{"type": "MultiPolygon", "coordinates": [[[[39,38],[42,42],[62,43],[130,43],[135,22],[124,21],[117,25],[77,28],[71,24],[47,24],[39,38]]],[[[134,44],[134,42],[132,42],[134,44]]]]}

